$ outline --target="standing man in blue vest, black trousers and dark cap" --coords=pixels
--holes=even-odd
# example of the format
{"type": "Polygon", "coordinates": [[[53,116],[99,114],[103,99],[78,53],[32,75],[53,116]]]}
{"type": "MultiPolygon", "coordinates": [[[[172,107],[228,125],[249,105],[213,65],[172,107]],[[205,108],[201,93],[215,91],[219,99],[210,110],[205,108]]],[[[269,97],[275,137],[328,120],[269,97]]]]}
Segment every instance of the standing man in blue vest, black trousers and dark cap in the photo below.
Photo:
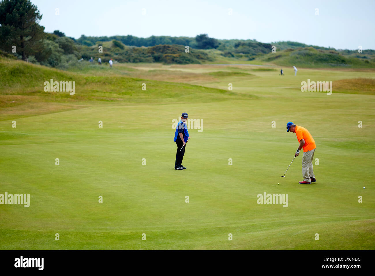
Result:
{"type": "Polygon", "coordinates": [[[189,132],[187,131],[187,125],[185,124],[187,118],[189,117],[187,117],[186,112],[181,114],[181,120],[178,122],[174,134],[174,142],[176,142],[177,145],[176,161],[174,163],[175,170],[186,169],[186,167],[182,166],[182,158],[184,157],[187,139],[189,138],[189,132]]]}

